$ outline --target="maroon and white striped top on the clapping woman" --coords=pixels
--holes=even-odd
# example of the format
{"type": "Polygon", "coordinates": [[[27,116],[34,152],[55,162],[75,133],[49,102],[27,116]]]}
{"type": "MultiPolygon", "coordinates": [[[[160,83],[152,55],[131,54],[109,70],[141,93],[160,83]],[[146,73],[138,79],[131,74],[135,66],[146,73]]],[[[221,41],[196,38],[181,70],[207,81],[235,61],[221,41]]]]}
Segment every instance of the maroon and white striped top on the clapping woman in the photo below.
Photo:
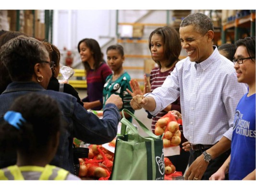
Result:
{"type": "MultiPolygon", "coordinates": [[[[150,78],[149,78],[149,82],[151,85],[150,91],[152,92],[154,89],[160,87],[164,83],[164,80],[166,79],[166,77],[170,75],[170,73],[173,71],[173,69],[174,67],[166,72],[161,72],[158,67],[155,67],[154,69],[152,69],[152,71],[150,72],[150,78]]],[[[181,112],[180,97],[171,104],[171,110],[177,110],[181,112]]],[[[162,110],[157,114],[156,117],[152,119],[151,129],[154,133],[155,133],[156,122],[165,114],[167,114],[167,112],[162,110]]]]}

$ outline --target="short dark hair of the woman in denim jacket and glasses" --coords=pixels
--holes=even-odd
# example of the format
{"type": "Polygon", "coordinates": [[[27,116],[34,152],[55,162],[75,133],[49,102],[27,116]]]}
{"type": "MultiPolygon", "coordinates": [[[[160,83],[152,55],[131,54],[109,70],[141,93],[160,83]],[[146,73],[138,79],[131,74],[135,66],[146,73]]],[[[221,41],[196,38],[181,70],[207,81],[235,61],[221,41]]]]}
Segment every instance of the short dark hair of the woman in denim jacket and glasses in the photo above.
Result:
{"type": "Polygon", "coordinates": [[[18,36],[0,48],[0,60],[12,81],[30,81],[35,64],[48,58],[49,53],[43,43],[33,37],[18,36]]]}

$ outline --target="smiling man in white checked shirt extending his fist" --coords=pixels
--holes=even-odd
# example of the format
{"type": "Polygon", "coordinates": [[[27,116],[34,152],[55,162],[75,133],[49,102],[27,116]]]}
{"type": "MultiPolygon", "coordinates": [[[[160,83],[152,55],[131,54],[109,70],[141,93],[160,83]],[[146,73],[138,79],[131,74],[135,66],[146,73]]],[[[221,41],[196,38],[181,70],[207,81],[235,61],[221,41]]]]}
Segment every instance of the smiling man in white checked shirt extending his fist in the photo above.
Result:
{"type": "Polygon", "coordinates": [[[212,46],[213,30],[203,13],[185,17],[180,39],[188,57],[161,87],[131,101],[134,109],[145,108],[155,116],[180,96],[183,134],[191,144],[185,180],[208,180],[230,155],[235,108],[247,91],[238,84],[232,61],[212,46]]]}

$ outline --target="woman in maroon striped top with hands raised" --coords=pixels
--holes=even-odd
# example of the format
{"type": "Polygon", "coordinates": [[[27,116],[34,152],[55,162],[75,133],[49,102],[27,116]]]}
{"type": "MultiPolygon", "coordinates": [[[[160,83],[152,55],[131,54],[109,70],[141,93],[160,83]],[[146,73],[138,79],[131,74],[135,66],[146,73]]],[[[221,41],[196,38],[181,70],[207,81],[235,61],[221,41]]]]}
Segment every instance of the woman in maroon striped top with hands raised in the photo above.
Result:
{"type": "MultiPolygon", "coordinates": [[[[162,86],[166,77],[170,75],[170,73],[175,68],[176,63],[179,61],[179,56],[182,49],[179,33],[175,28],[171,26],[158,27],[155,29],[149,36],[148,47],[150,49],[152,59],[158,64],[158,67],[153,68],[150,72],[150,84],[148,84],[146,75],[144,75],[144,93],[142,93],[140,90],[139,84],[136,80],[132,79],[130,81],[133,93],[129,92],[129,90],[127,91],[132,96],[144,95],[162,86]]],[[[152,119],[152,132],[155,133],[155,124],[158,119],[163,117],[170,110],[177,110],[181,113],[180,98],[168,105],[164,110],[159,112],[158,115],[152,119]]],[[[182,171],[184,173],[188,164],[189,153],[182,150],[182,144],[187,142],[187,140],[183,136],[183,130],[181,130],[181,132],[181,155],[169,156],[169,158],[175,165],[176,170],[182,171]]]]}

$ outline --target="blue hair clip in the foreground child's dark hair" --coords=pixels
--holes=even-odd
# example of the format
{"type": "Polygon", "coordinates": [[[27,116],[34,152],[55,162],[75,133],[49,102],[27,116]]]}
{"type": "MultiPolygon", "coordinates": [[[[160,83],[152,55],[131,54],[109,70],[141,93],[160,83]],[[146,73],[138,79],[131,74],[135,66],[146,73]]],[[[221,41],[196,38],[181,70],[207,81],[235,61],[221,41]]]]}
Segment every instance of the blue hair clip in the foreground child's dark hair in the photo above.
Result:
{"type": "Polygon", "coordinates": [[[16,111],[7,111],[4,114],[3,119],[18,130],[23,122],[26,122],[26,120],[22,117],[22,114],[16,111]]]}

